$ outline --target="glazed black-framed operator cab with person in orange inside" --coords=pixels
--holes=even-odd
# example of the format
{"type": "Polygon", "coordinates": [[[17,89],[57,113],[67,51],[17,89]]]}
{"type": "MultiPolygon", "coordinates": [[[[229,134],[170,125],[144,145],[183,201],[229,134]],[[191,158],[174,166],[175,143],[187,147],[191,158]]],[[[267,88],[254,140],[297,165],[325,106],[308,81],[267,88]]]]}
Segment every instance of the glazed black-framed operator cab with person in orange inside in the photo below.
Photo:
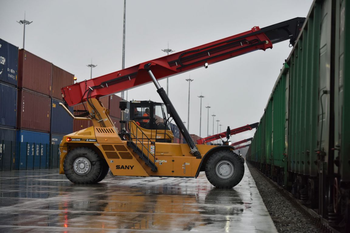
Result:
{"type": "MultiPolygon", "coordinates": [[[[166,105],[153,101],[130,101],[130,121],[149,132],[156,142],[171,143],[174,136],[170,128],[166,105]]],[[[148,133],[148,134],[149,134],[148,133]]]]}

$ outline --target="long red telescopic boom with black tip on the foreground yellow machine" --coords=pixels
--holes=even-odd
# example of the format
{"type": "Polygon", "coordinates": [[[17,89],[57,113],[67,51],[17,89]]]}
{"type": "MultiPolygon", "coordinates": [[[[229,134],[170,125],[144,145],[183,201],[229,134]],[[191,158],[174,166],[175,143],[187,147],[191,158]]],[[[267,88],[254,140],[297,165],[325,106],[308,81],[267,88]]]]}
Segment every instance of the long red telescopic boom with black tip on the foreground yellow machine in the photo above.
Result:
{"type": "Polygon", "coordinates": [[[158,80],[202,66],[207,68],[210,64],[255,50],[265,51],[271,49],[272,44],[287,39],[290,39],[290,44],[294,44],[304,20],[305,18],[294,18],[261,29],[253,27],[249,31],[234,36],[78,82],[63,87],[62,97],[69,106],[72,106],[85,102],[87,98],[98,99],[149,83],[152,81],[149,70],[152,70],[155,79],[158,80]],[[91,92],[87,96],[89,89],[91,92]]]}

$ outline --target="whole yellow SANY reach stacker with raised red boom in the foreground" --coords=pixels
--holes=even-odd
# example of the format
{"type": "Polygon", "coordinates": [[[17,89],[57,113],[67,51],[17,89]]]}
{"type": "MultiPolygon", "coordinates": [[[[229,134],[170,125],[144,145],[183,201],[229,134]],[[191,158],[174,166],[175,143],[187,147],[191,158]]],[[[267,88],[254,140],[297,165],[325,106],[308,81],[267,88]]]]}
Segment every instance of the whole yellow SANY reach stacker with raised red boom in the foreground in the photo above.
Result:
{"type": "MultiPolygon", "coordinates": [[[[73,183],[102,181],[109,169],[115,176],[197,177],[205,171],[218,188],[237,185],[244,175],[244,159],[229,145],[196,145],[191,139],[158,79],[239,56],[272,48],[273,43],[290,39],[293,45],[304,18],[295,18],[265,28],[253,27],[238,35],[168,56],[147,61],[62,88],[66,105],[87,102],[78,120],[92,120],[93,126],[63,137],[60,145],[60,174],[73,183]],[[153,82],[163,103],[131,101],[130,120],[112,123],[109,110],[98,100],[123,90],[153,82]],[[173,120],[187,144],[174,142],[169,122],[173,120]]],[[[122,116],[127,108],[120,102],[122,116]]],[[[229,138],[229,133],[227,138],[229,138]]]]}

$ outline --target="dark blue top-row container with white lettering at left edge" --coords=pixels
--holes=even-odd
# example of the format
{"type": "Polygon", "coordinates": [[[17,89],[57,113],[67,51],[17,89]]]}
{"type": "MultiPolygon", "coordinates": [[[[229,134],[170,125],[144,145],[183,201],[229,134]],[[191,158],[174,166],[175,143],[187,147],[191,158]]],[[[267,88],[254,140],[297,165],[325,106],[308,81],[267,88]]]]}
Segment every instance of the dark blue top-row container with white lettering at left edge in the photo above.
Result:
{"type": "Polygon", "coordinates": [[[0,81],[17,86],[18,47],[0,39],[0,81]]]}

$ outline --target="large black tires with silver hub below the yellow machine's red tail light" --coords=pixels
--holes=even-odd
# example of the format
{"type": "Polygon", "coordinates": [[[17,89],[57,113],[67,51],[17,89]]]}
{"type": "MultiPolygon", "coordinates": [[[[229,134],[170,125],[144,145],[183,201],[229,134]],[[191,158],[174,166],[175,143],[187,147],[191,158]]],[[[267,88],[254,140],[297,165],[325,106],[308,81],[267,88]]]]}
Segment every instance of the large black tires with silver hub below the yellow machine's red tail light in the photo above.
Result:
{"type": "Polygon", "coordinates": [[[104,174],[103,168],[103,160],[86,147],[78,147],[70,151],[63,163],[64,174],[75,184],[92,184],[101,181],[100,178],[104,174]]]}

